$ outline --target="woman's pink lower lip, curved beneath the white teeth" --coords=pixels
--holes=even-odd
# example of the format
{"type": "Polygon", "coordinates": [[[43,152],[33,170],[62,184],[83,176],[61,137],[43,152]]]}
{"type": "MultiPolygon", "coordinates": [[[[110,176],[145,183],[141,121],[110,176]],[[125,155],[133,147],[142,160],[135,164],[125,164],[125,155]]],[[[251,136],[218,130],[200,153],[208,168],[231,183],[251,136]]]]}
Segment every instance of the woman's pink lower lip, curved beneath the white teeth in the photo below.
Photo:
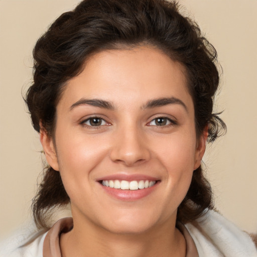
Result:
{"type": "Polygon", "coordinates": [[[152,187],[138,189],[138,190],[122,190],[111,187],[106,187],[100,184],[103,190],[110,196],[123,201],[136,201],[151,194],[159,185],[159,181],[152,187]]]}

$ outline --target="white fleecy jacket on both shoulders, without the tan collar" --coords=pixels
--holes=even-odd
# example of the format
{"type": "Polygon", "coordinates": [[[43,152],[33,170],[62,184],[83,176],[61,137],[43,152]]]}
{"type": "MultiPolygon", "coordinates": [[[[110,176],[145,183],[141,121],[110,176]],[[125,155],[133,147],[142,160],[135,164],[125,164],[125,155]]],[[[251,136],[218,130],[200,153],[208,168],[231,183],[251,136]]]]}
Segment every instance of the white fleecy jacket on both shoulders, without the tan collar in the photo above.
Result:
{"type": "MultiPolygon", "coordinates": [[[[203,218],[185,226],[199,257],[257,257],[250,236],[215,211],[210,210],[203,218]]],[[[35,224],[19,230],[0,243],[0,257],[43,257],[46,233],[37,231],[35,224]]]]}

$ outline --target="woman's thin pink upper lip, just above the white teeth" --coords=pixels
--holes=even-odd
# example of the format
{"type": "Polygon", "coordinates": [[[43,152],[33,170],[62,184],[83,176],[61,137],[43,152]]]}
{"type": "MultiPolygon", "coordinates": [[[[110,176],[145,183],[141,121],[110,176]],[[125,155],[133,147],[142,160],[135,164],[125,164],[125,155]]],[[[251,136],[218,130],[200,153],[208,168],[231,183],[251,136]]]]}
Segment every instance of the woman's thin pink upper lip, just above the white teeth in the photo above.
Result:
{"type": "Polygon", "coordinates": [[[152,180],[157,181],[160,180],[157,177],[148,176],[145,174],[112,174],[104,177],[100,177],[97,179],[97,181],[102,180],[126,180],[126,181],[140,181],[140,180],[152,180]]]}

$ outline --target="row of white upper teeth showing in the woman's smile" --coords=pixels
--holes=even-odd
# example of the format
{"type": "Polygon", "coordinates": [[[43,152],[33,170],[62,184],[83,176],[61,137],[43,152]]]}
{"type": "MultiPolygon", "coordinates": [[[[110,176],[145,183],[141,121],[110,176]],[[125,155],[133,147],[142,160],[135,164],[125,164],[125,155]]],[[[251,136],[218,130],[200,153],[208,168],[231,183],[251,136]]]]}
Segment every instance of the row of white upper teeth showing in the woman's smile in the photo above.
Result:
{"type": "Polygon", "coordinates": [[[152,187],[156,184],[156,181],[140,180],[140,181],[126,181],[126,180],[103,180],[102,185],[121,190],[138,190],[148,187],[152,187]]]}

